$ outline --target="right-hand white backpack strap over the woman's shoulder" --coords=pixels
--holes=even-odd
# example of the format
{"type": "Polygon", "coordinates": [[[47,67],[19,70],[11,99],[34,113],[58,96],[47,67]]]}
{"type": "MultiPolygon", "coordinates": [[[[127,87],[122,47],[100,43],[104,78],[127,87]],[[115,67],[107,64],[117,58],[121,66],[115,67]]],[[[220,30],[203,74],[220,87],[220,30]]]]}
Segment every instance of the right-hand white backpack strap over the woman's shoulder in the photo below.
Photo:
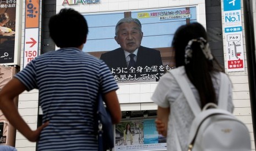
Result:
{"type": "Polygon", "coordinates": [[[220,90],[219,90],[219,102],[218,107],[221,109],[227,110],[227,103],[228,103],[228,77],[225,73],[220,73],[220,90]]]}

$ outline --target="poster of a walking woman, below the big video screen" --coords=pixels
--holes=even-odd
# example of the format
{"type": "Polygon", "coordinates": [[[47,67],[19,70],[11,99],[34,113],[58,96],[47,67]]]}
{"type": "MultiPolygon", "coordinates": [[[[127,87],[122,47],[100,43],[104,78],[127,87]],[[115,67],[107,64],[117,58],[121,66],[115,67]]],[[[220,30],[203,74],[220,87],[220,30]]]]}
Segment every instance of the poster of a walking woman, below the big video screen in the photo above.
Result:
{"type": "Polygon", "coordinates": [[[122,121],[115,125],[115,150],[163,150],[166,138],[156,131],[155,119],[122,121]]]}

